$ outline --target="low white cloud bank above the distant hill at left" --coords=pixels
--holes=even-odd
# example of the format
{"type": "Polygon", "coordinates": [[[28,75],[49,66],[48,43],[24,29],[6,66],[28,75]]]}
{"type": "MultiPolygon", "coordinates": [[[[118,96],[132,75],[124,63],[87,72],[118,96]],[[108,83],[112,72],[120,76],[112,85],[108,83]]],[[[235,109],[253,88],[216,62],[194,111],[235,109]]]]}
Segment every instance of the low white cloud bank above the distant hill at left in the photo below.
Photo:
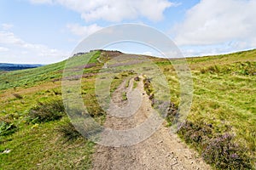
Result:
{"type": "Polygon", "coordinates": [[[68,53],[42,44],[25,42],[13,32],[0,31],[0,62],[48,64],[67,58],[68,53]],[[11,49],[11,50],[9,50],[11,49]]]}

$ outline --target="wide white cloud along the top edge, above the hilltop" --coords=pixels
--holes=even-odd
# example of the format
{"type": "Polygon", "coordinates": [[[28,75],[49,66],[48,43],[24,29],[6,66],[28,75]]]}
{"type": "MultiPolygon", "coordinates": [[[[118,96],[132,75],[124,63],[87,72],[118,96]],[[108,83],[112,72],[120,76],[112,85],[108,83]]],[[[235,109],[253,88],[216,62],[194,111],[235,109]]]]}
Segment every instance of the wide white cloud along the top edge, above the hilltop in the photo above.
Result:
{"type": "Polygon", "coordinates": [[[145,17],[163,19],[166,8],[176,6],[168,0],[30,0],[31,3],[56,3],[79,12],[85,21],[107,20],[119,22],[145,17]]]}

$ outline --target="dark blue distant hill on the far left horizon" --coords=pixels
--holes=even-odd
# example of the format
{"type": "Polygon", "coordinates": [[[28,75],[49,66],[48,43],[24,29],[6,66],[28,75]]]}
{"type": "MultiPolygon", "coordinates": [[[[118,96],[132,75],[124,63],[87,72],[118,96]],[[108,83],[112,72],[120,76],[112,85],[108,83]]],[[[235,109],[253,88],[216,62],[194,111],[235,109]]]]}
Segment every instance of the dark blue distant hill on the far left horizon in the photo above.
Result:
{"type": "Polygon", "coordinates": [[[43,66],[43,65],[24,65],[24,64],[0,63],[0,71],[18,71],[18,70],[36,68],[38,66],[43,66]]]}

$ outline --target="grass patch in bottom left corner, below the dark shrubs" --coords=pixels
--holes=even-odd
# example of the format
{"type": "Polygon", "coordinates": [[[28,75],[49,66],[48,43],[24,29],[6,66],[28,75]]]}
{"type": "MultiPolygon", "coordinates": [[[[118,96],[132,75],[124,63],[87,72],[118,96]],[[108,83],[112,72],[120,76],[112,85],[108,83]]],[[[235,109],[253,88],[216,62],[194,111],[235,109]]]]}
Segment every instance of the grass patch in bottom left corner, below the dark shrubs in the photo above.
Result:
{"type": "Polygon", "coordinates": [[[55,130],[61,122],[46,123],[37,128],[24,127],[9,136],[0,150],[0,167],[3,169],[89,169],[93,146],[82,138],[63,144],[55,130]]]}

